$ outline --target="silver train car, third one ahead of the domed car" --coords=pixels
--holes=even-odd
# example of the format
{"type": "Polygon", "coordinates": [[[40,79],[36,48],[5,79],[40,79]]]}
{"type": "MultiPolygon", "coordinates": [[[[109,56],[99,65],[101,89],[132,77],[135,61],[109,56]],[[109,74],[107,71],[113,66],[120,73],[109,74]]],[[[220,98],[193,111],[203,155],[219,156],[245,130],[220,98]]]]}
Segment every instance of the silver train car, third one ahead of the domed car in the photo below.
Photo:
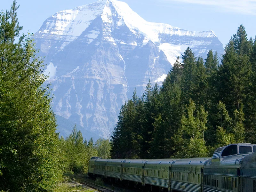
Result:
{"type": "Polygon", "coordinates": [[[133,181],[135,184],[142,183],[143,166],[146,160],[127,159],[123,163],[122,180],[133,181]]]}

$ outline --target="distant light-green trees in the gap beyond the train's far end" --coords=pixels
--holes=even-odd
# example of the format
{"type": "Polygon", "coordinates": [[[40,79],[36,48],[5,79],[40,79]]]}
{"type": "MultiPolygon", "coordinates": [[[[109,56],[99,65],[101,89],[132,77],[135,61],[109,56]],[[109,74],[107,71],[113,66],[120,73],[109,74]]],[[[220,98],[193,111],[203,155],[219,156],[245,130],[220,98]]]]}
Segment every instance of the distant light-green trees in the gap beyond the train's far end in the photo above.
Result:
{"type": "Polygon", "coordinates": [[[64,139],[60,138],[60,150],[62,154],[62,164],[65,173],[83,174],[87,173],[89,160],[93,156],[107,159],[110,157],[110,143],[108,139],[100,138],[93,142],[91,138],[88,142],[83,138],[81,131],[73,127],[72,133],[64,139]]]}

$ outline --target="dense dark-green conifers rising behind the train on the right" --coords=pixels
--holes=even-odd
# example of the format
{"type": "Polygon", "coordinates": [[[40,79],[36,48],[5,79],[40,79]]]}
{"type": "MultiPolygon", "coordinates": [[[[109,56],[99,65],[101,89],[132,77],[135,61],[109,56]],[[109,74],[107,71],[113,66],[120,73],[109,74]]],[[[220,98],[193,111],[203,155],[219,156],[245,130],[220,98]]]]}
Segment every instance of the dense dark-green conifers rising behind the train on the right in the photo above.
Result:
{"type": "Polygon", "coordinates": [[[241,25],[222,59],[188,49],[162,86],[147,84],[121,108],[112,158],[211,156],[229,143],[256,143],[256,37],[241,25]]]}

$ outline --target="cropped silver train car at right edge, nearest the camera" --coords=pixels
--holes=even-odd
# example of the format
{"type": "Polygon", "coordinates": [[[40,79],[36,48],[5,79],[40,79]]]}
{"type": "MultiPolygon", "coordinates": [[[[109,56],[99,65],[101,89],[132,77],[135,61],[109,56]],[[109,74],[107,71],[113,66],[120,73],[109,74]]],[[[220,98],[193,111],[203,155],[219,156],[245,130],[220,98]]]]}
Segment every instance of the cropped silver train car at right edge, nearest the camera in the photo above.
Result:
{"type": "MultiPolygon", "coordinates": [[[[254,146],[256,149],[256,146],[254,146]]],[[[254,152],[256,150],[253,150],[254,152]]],[[[256,192],[256,153],[244,157],[241,163],[241,192],[256,192]]]]}

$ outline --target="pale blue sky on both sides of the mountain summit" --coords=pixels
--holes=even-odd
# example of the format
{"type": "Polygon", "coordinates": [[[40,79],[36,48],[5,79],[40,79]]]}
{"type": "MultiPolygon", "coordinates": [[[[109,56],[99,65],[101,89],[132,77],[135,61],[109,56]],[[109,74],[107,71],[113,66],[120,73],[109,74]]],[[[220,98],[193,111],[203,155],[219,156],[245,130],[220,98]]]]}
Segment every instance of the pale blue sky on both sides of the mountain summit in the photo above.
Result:
{"type": "MultiPolygon", "coordinates": [[[[35,33],[44,20],[57,11],[72,9],[96,0],[16,0],[23,32],[35,33]]],[[[256,0],[123,0],[133,11],[151,22],[168,23],[192,31],[212,29],[225,46],[243,24],[248,36],[256,35],[256,0]]],[[[0,10],[12,0],[1,0],[0,10]]]]}

